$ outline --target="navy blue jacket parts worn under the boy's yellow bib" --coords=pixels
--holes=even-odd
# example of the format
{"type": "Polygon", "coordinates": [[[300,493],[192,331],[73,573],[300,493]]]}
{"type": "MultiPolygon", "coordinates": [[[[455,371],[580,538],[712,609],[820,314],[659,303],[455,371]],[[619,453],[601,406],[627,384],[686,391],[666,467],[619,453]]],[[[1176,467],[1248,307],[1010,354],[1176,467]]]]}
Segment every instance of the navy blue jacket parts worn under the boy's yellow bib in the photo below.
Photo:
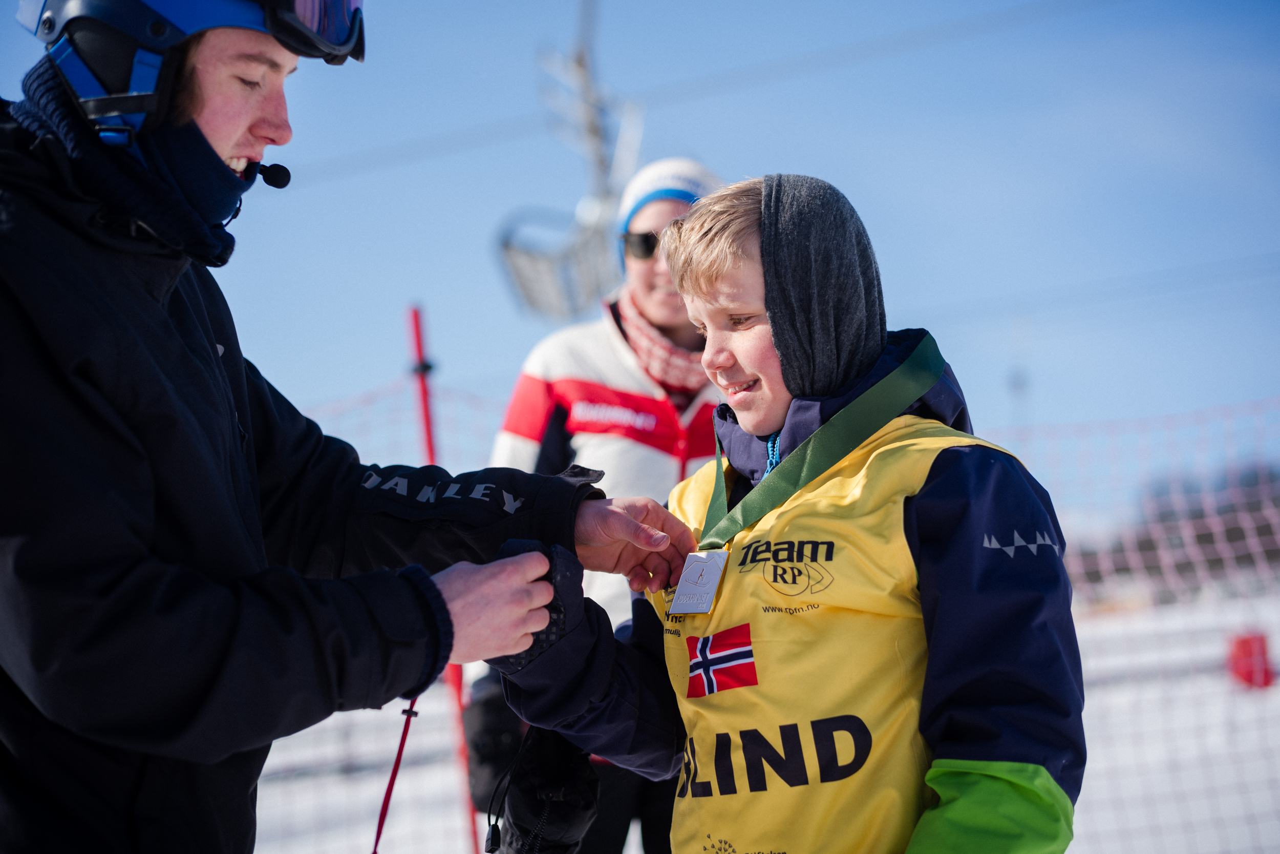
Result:
{"type": "MultiPolygon", "coordinates": [[[[890,333],[884,355],[850,388],[794,401],[783,456],[900,365],[923,337],[924,330],[890,333]]],[[[717,433],[730,463],[748,475],[737,484],[759,483],[765,443],[742,433],[726,408],[717,414],[717,433]]],[[[906,412],[969,430],[950,367],[906,412]]],[[[735,489],[731,501],[742,494],[735,489]]],[[[1039,764],[1074,803],[1085,759],[1084,689],[1062,531],[1048,494],[1007,453],[948,448],[906,499],[902,529],[929,647],[920,732],[934,757],[1039,764]],[[1030,531],[1052,531],[1056,542],[1015,545],[1014,531],[1033,540],[1030,531]],[[1033,557],[1032,545],[1037,560],[1023,560],[1033,557]]],[[[662,622],[644,599],[632,608],[625,640],[608,634],[608,620],[588,599],[586,617],[570,620],[562,640],[518,667],[495,666],[508,675],[508,702],[524,720],[657,780],[680,769],[685,734],[662,663],[662,622]]]]}

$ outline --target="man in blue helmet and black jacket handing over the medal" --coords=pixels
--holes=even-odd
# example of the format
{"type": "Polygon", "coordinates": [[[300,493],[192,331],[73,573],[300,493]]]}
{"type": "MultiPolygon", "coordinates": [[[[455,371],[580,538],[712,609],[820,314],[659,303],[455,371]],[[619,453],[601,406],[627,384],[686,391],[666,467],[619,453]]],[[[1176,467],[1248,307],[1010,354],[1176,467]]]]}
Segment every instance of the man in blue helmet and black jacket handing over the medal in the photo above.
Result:
{"type": "Polygon", "coordinates": [[[637,589],[689,544],[598,472],[362,465],[241,353],[207,268],[358,6],[19,6],[50,49],[0,102],[0,850],[248,851],[273,739],[548,624],[545,558],[480,566],[508,538],[637,589]]]}

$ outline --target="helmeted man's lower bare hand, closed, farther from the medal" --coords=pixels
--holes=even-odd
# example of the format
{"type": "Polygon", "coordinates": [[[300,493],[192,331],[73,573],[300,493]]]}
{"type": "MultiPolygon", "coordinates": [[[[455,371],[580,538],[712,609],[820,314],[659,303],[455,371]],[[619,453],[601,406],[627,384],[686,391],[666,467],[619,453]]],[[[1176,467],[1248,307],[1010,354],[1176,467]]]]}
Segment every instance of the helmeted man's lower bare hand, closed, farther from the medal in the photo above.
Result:
{"type": "Polygon", "coordinates": [[[431,576],[453,621],[449,662],[465,665],[529,649],[534,632],[550,622],[543,606],[554,590],[536,580],[548,567],[544,554],[527,552],[484,565],[463,561],[431,576]]]}

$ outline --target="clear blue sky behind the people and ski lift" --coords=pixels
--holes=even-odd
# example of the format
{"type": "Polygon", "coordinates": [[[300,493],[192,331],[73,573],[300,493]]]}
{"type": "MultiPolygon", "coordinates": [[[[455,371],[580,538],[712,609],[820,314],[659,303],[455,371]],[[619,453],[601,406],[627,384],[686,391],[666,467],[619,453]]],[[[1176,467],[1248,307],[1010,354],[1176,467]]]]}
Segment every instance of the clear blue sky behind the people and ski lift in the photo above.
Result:
{"type": "MultiPolygon", "coordinates": [[[[300,406],[394,379],[412,301],[436,382],[503,399],[554,325],[516,305],[495,232],[521,206],[572,210],[585,165],[538,127],[393,168],[379,149],[538,114],[536,55],[571,47],[576,3],[367,15],[364,65],[303,60],[291,81],[294,142],[268,161],[294,183],[250,192],[216,277],[244,352],[300,406]]],[[[599,18],[609,88],[676,93],[649,99],[644,160],[849,196],[890,326],[933,332],[979,433],[1280,394],[1280,5],[603,0],[599,18]],[[932,29],[1011,9],[1038,19],[932,29]],[[799,73],[855,42],[906,47],[799,73]]],[[[0,96],[40,50],[0,26],[0,96]]]]}

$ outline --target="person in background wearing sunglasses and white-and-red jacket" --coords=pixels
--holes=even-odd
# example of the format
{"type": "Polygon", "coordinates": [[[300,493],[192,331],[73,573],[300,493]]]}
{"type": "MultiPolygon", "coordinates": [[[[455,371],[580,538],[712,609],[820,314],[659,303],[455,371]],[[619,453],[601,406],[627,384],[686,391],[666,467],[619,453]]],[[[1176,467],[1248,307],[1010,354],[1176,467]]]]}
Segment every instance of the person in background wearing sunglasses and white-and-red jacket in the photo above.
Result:
{"type": "MultiPolygon", "coordinates": [[[[604,301],[603,318],[566,326],[529,353],[489,465],[556,474],[577,463],[603,470],[600,488],[609,494],[666,502],[672,487],[714,456],[712,411],[723,398],[703,370],[703,339],[671,280],[658,236],[722,184],[689,157],[655,160],[627,182],[618,204],[626,280],[604,301]]],[[[582,586],[614,626],[631,618],[631,592],[622,579],[595,574],[582,586]]],[[[511,729],[518,722],[495,679],[477,680],[472,697],[465,720],[474,767],[490,754],[492,772],[476,768],[472,775],[472,796],[484,808],[520,741],[511,729]],[[480,721],[490,723],[481,727],[480,721]],[[509,746],[489,749],[497,744],[509,746]]],[[[600,762],[596,773],[598,814],[582,850],[620,854],[631,819],[640,818],[644,850],[669,851],[675,781],[652,782],[600,762]]]]}

